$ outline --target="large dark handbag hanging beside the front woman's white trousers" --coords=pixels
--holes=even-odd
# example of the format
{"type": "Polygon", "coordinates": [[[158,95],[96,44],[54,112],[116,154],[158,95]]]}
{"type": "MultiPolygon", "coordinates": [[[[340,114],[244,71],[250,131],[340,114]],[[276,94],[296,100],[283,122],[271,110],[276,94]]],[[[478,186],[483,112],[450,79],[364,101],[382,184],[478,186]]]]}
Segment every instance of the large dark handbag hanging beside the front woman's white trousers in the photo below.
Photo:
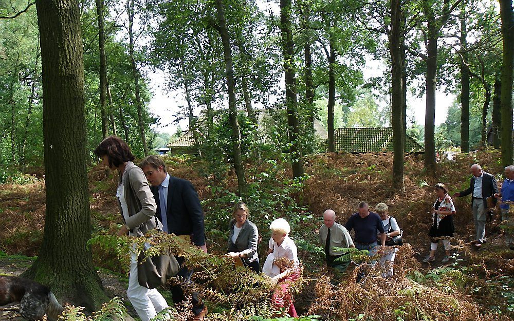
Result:
{"type": "MultiPolygon", "coordinates": [[[[156,226],[157,218],[155,218],[156,226]]],[[[177,275],[180,265],[171,253],[146,257],[146,250],[150,244],[144,244],[144,250],[137,257],[137,280],[139,285],[148,289],[155,289],[166,284],[166,281],[177,275]]]]}

